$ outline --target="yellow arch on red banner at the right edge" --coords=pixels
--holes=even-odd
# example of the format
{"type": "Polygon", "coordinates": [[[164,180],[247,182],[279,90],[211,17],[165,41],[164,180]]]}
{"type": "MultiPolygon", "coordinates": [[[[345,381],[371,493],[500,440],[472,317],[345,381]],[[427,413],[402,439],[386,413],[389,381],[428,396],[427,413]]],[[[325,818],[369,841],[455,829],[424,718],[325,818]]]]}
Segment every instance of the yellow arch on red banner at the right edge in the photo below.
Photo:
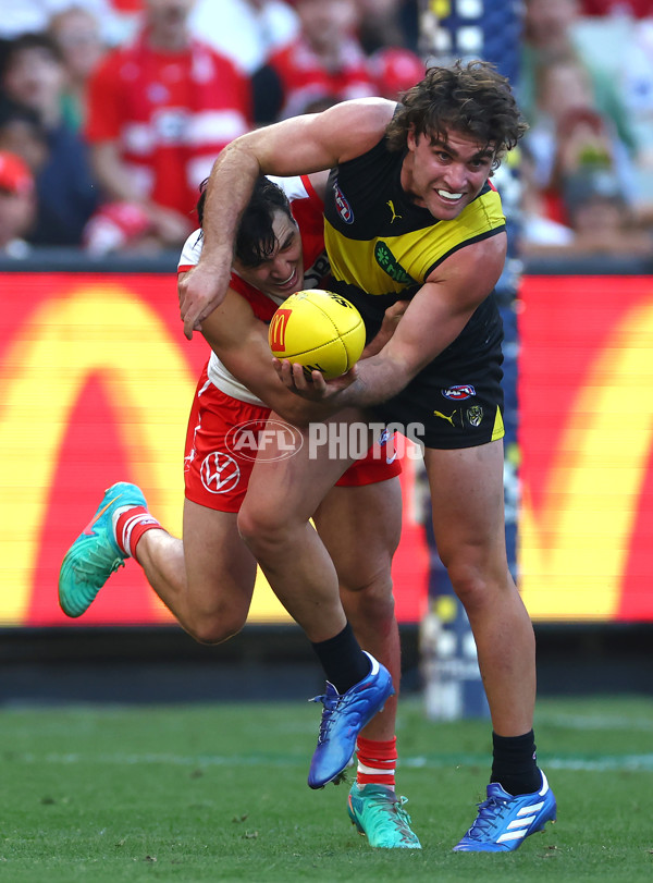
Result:
{"type": "Polygon", "coordinates": [[[591,365],[540,508],[523,489],[520,572],[533,618],[618,610],[653,443],[653,305],[632,308],[591,365]]]}

